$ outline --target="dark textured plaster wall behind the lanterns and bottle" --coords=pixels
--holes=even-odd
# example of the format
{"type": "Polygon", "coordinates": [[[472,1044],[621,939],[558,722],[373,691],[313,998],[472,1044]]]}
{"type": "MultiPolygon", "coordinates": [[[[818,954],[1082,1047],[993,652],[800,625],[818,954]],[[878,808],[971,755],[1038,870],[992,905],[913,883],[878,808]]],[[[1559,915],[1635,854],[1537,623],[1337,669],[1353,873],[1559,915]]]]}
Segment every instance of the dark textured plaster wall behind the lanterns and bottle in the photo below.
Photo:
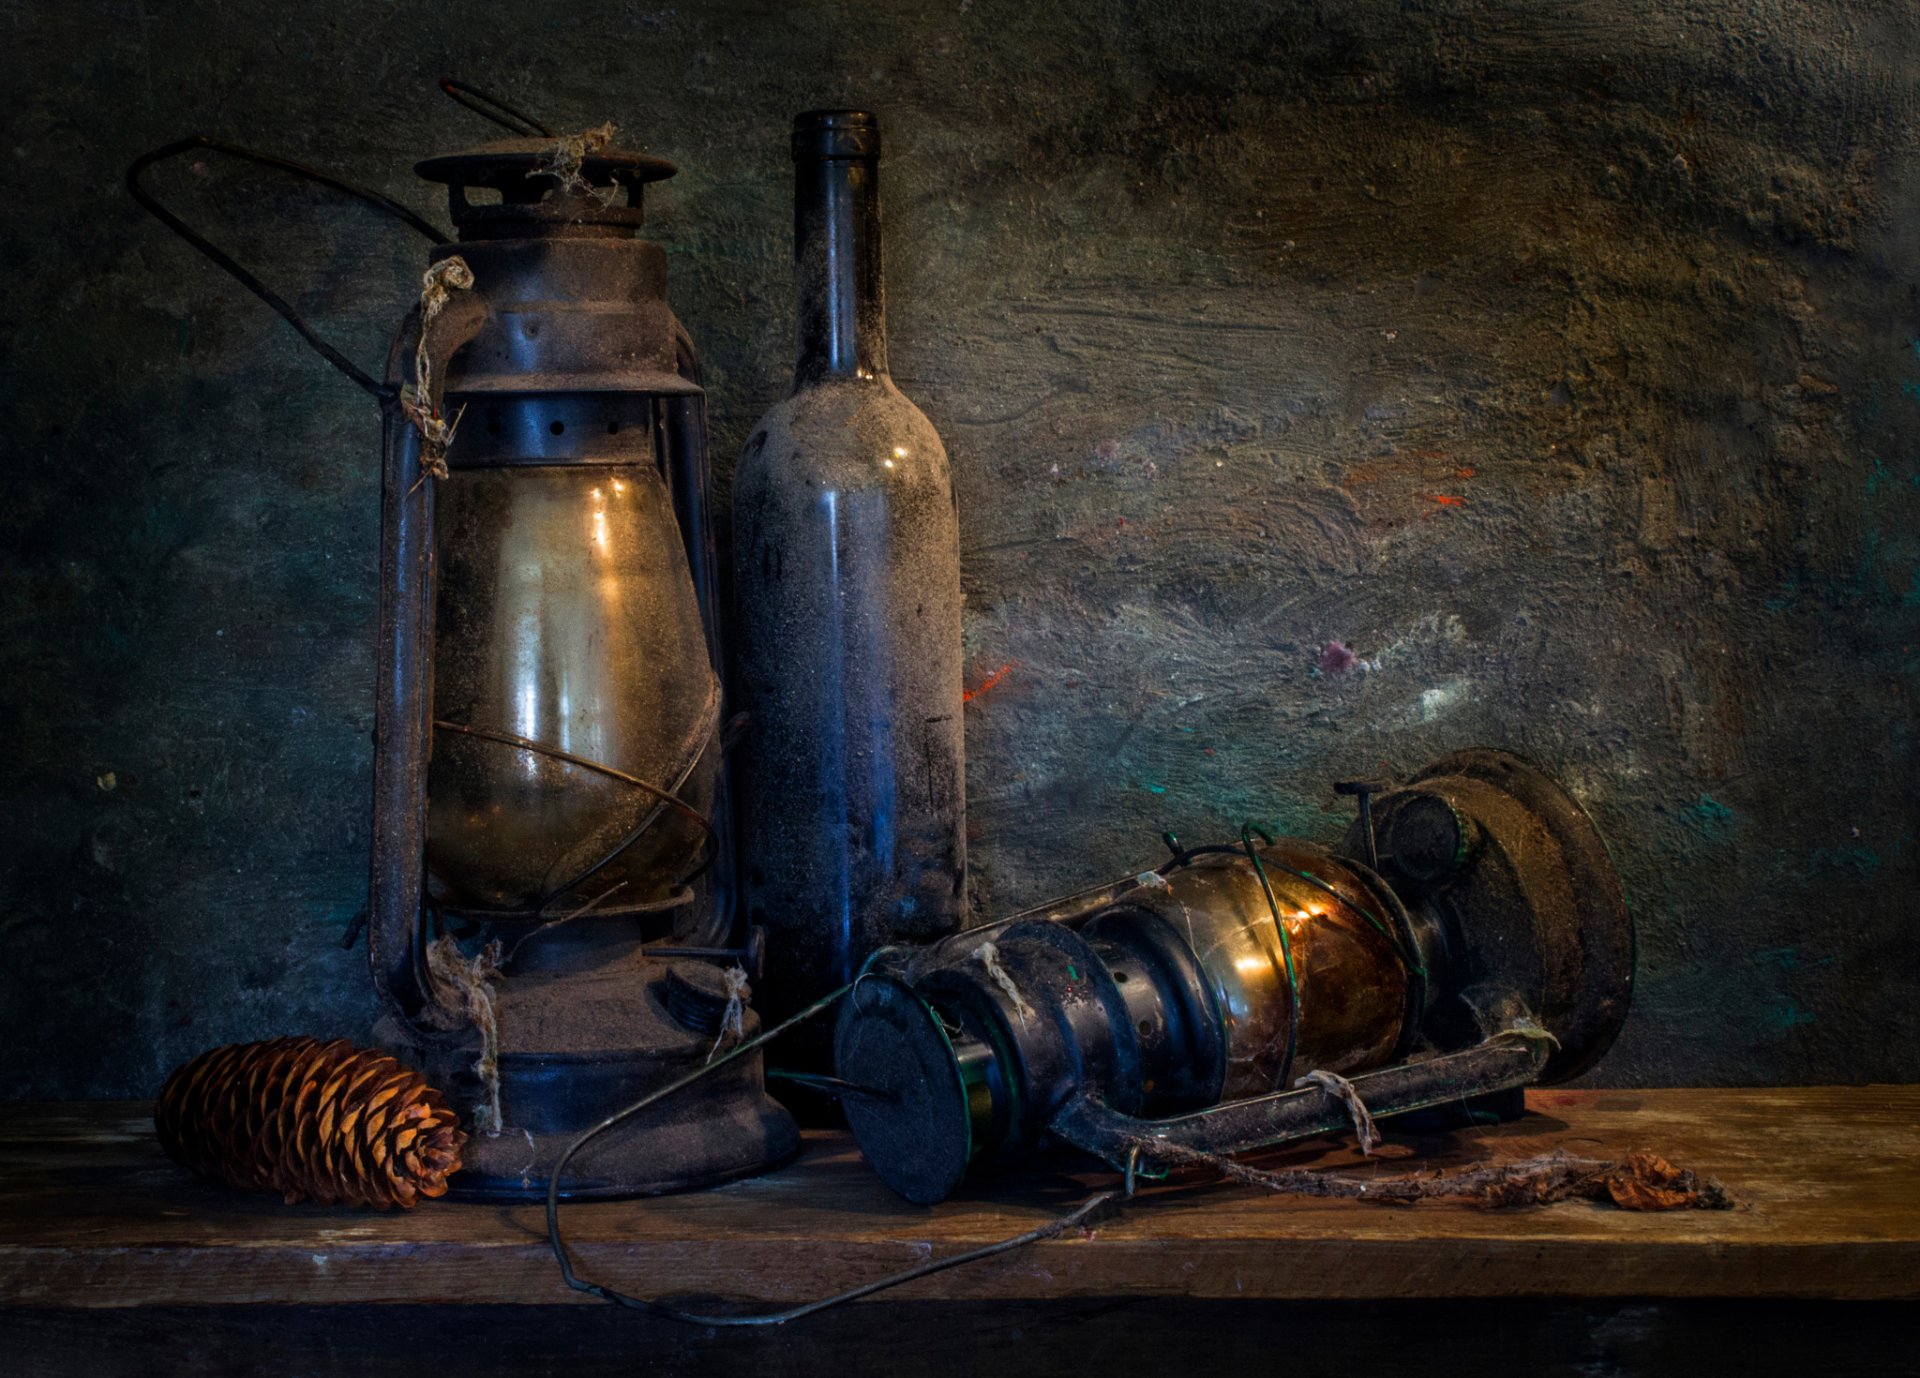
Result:
{"type": "MultiPolygon", "coordinates": [[[[1640,917],[1601,1079],[1920,1075],[1905,0],[12,0],[0,1092],[369,1023],[372,409],[119,171],[207,131],[440,217],[411,161],[488,134],[440,71],[682,161],[722,468],[789,367],[787,121],[883,111],[895,367],[1010,666],[983,910],[1505,745],[1640,917]]],[[[380,357],[417,244],[165,184],[380,357]]]]}

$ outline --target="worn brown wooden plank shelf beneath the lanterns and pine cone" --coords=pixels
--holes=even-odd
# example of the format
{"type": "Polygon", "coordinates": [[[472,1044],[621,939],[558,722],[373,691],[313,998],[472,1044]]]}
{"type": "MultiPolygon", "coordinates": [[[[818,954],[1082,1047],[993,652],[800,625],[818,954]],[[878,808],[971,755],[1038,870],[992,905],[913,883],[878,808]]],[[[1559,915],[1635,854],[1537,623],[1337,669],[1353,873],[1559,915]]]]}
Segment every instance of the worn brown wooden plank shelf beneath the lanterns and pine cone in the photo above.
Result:
{"type": "MultiPolygon", "coordinates": [[[[1534,1092],[1511,1125],[1402,1136],[1361,1165],[1325,1140],[1267,1163],[1357,1173],[1651,1148],[1740,1209],[1634,1215],[1569,1201],[1488,1211],[1273,1198],[1198,1178],[900,1299],[1920,1295],[1920,1086],[1534,1092]]],[[[578,1267],[643,1295],[791,1303],[1027,1230],[1110,1182],[1066,1165],[935,1209],[891,1196],[841,1134],[733,1186],[566,1209],[578,1267]]],[[[409,1215],[280,1205],[198,1182],[140,1104],[0,1117],[0,1301],[31,1307],[557,1303],[574,1299],[538,1207],[409,1215]]]]}

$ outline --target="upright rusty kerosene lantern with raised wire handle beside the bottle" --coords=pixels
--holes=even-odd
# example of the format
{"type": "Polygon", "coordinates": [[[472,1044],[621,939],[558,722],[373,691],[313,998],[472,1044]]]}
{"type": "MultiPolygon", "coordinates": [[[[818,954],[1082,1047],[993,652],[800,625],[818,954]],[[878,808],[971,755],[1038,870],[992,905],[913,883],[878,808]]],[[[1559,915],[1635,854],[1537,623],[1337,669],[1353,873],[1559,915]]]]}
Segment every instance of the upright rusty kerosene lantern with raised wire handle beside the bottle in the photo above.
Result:
{"type": "MultiPolygon", "coordinates": [[[[129,178],[319,344],[140,186],[186,148],[355,188],[211,140],[129,178]]],[[[636,236],[672,163],[611,127],[532,127],[419,173],[459,242],[432,251],[386,386],[321,345],[384,413],[369,952],[384,1036],[468,1119],[453,1192],[532,1198],[584,1130],[758,1027],[705,403],[666,253],[636,236]]],[[[737,1057],[597,1134],[561,1196],[703,1186],[797,1146],[758,1056],[737,1057]]]]}

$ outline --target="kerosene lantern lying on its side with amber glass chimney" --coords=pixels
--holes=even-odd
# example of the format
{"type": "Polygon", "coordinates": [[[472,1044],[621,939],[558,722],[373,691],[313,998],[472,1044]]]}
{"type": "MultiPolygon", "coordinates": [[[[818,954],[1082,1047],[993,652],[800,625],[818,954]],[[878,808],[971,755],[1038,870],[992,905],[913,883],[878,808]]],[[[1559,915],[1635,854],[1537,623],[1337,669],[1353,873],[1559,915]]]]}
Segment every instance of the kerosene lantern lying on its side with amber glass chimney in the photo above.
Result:
{"type": "Polygon", "coordinates": [[[1158,871],[883,954],[835,1031],[874,1171],[933,1203],[1050,1140],[1131,1171],[1336,1130],[1356,1096],[1517,1113],[1590,1067],[1634,931],[1588,816],[1498,750],[1371,789],[1336,852],[1169,837],[1158,871]]]}

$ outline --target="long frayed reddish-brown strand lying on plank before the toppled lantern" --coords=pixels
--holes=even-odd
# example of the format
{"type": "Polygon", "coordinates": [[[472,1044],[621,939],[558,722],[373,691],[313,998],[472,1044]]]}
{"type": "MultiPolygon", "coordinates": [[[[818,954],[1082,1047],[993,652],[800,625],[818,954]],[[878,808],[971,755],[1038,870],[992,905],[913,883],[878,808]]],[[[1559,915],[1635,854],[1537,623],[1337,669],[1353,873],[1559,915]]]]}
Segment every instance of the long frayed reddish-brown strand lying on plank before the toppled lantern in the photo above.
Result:
{"type": "Polygon", "coordinates": [[[1167,1144],[1150,1136],[1131,1140],[1142,1157],[1164,1167],[1208,1167],[1242,1186],[1283,1196],[1379,1201],[1465,1201],[1469,1205],[1548,1205],[1551,1201],[1613,1201],[1622,1211],[1730,1211],[1734,1196],[1715,1178],[1697,1176],[1659,1153],[1634,1150],[1619,1161],[1542,1153],[1519,1163],[1494,1163],[1440,1173],[1407,1173],[1357,1180],[1306,1167],[1271,1171],[1248,1167],[1219,1153],[1167,1144]]]}

